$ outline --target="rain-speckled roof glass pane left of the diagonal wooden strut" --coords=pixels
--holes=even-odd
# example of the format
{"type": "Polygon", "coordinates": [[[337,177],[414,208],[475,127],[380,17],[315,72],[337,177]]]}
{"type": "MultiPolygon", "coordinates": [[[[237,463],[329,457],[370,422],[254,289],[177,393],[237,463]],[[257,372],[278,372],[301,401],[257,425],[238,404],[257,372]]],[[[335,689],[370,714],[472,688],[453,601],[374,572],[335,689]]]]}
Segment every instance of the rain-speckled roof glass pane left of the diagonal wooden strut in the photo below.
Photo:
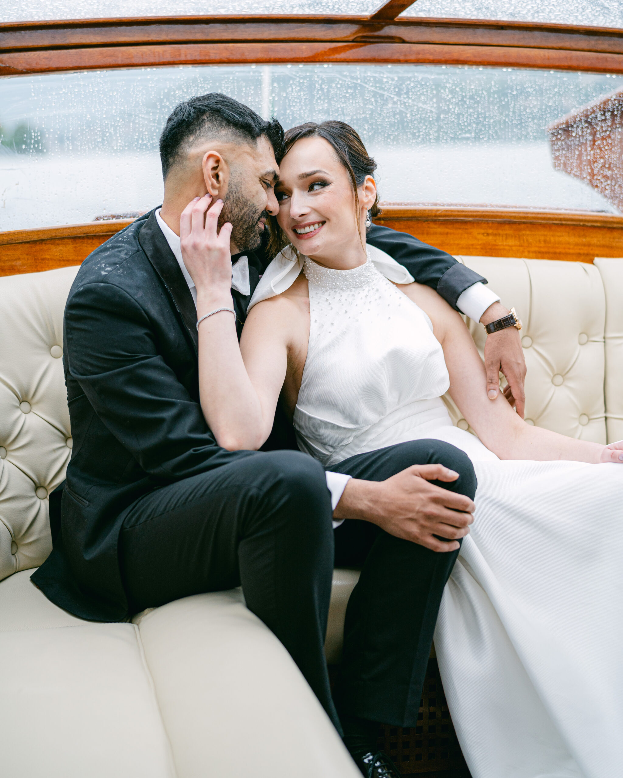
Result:
{"type": "Polygon", "coordinates": [[[212,14],[366,16],[379,5],[381,0],[4,0],[0,4],[0,23],[212,14]]]}

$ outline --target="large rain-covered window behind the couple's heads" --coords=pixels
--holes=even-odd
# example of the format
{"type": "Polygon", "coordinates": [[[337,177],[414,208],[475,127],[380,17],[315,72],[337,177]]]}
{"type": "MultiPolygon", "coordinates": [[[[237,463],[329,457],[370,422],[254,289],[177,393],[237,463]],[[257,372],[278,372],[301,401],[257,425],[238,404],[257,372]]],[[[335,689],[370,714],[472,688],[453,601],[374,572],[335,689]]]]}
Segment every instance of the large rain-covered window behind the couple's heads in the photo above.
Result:
{"type": "Polygon", "coordinates": [[[158,136],[167,115],[180,100],[211,91],[274,114],[285,128],[349,122],[378,160],[385,202],[616,212],[616,201],[554,169],[547,132],[616,89],[623,89],[621,75],[444,65],[219,65],[5,77],[0,229],[88,222],[157,205],[158,136]]]}

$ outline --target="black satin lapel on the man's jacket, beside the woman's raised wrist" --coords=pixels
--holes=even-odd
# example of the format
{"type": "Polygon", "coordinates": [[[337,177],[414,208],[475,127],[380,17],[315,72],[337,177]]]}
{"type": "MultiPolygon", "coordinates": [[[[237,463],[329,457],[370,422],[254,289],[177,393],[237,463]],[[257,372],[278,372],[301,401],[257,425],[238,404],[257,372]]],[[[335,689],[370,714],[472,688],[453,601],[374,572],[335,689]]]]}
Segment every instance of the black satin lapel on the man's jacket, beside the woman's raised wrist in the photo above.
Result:
{"type": "Polygon", "coordinates": [[[192,300],[192,294],[188,289],[188,284],[181,274],[180,266],[175,259],[171,247],[167,244],[162,230],[158,226],[155,210],[150,213],[146,219],[145,225],[139,232],[139,244],[153,265],[153,269],[160,275],[160,279],[171,295],[175,307],[184,322],[188,335],[195,348],[195,354],[198,351],[199,337],[197,335],[197,310],[195,302],[192,300]]]}

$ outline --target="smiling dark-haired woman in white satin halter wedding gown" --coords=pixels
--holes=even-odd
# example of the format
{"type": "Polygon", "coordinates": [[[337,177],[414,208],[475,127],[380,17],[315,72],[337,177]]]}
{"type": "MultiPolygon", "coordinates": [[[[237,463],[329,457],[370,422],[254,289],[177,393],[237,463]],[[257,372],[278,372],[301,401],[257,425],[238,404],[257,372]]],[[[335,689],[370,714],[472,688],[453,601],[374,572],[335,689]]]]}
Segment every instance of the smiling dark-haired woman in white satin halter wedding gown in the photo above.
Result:
{"type": "Polygon", "coordinates": [[[273,226],[288,245],[252,297],[241,352],[253,396],[227,424],[238,447],[258,448],[281,399],[301,450],[332,470],[407,440],[465,451],[475,521],[435,649],[473,778],[623,775],[623,443],[572,440],[487,399],[459,314],[366,248],[378,195],[354,174],[362,150],[340,122],[287,132],[273,226]],[[452,426],[446,391],[477,437],[452,426]]]}

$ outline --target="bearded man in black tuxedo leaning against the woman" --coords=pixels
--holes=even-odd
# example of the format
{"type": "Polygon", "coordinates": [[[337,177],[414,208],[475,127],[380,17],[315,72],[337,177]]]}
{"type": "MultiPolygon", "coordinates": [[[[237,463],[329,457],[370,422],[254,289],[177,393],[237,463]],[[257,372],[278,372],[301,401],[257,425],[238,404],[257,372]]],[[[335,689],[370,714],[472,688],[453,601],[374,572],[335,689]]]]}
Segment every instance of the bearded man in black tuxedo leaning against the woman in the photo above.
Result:
{"type": "MultiPolygon", "coordinates": [[[[199,401],[197,298],[179,219],[208,192],[224,200],[241,324],[268,261],[264,223],[278,210],[282,141],[278,122],[226,96],[181,103],[160,138],[162,208],[84,261],[65,309],[74,448],[54,549],[32,577],[57,605],[99,621],[241,584],[248,608],[290,652],[338,730],[341,718],[362,772],[397,776],[375,755],[376,723],[417,722],[442,590],[472,520],[475,477],[465,454],[441,441],[391,447],[361,464],[357,478],[325,473],[301,452],[275,450],[289,440],[284,419],[269,450],[216,443],[199,401]],[[347,520],[336,534],[359,544],[345,553],[364,567],[349,608],[340,717],[323,655],[332,517],[347,520]],[[350,532],[356,525],[368,529],[350,532]],[[361,558],[367,543],[371,552],[361,558]],[[362,653],[363,632],[373,647],[362,653]]],[[[478,286],[484,279],[447,254],[380,227],[369,240],[452,304],[463,298],[463,310],[480,318],[478,307],[488,303],[488,316],[498,318],[497,298],[478,286]]],[[[508,332],[496,335],[512,346],[508,332]]],[[[504,342],[494,350],[513,363],[504,342]]]]}

